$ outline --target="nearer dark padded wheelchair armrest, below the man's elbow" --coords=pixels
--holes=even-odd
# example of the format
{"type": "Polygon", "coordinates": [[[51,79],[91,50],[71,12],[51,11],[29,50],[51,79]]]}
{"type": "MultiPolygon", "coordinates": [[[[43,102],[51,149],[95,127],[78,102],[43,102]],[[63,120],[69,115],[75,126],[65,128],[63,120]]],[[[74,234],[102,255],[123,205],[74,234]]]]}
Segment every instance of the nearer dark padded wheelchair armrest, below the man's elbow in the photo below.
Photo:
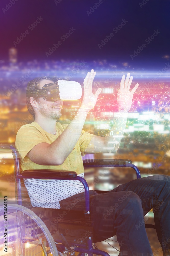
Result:
{"type": "Polygon", "coordinates": [[[60,171],[60,170],[50,170],[50,169],[36,169],[36,170],[24,170],[22,172],[24,178],[76,178],[77,173],[73,171],[60,171]]]}

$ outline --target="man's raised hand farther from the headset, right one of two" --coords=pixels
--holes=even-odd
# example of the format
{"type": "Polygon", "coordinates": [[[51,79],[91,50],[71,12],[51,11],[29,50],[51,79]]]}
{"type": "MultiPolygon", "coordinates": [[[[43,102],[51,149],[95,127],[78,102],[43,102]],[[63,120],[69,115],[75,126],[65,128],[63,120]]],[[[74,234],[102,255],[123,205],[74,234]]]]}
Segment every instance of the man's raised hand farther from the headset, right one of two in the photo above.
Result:
{"type": "Polygon", "coordinates": [[[127,73],[127,77],[125,79],[125,75],[122,76],[122,80],[120,82],[120,89],[117,93],[117,103],[119,106],[119,111],[128,112],[132,105],[133,94],[138,88],[138,83],[134,86],[134,88],[130,91],[130,85],[132,83],[133,77],[130,77],[130,73],[127,73]]]}

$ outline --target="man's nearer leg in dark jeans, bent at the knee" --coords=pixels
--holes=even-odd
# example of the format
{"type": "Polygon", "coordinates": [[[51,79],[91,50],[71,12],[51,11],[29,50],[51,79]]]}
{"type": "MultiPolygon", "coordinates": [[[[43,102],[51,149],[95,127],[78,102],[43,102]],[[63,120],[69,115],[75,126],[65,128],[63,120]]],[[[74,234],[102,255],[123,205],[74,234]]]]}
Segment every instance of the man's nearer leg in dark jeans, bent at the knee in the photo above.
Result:
{"type": "Polygon", "coordinates": [[[95,195],[90,201],[94,242],[117,234],[120,255],[153,255],[145,230],[142,201],[136,193],[110,191],[95,195]]]}

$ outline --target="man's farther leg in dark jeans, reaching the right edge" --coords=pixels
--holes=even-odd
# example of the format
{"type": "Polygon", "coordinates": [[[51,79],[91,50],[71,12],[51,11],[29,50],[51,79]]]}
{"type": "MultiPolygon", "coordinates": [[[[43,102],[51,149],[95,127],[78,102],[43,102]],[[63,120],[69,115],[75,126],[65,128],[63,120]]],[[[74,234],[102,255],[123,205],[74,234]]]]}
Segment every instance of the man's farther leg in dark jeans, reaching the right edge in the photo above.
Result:
{"type": "Polygon", "coordinates": [[[156,232],[164,255],[170,255],[169,189],[169,176],[154,175],[130,181],[107,193],[133,191],[142,201],[144,215],[153,208],[156,232]]]}

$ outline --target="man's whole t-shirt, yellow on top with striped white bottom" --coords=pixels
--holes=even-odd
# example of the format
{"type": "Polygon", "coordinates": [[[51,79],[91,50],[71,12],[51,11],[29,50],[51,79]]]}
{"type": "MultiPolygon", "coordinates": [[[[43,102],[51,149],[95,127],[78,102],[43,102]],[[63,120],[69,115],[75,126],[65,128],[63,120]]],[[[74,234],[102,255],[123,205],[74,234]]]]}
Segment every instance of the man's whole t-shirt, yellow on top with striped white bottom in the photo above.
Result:
{"type": "MultiPolygon", "coordinates": [[[[84,177],[84,168],[81,155],[93,137],[93,134],[82,131],[75,148],[66,158],[62,165],[39,165],[32,162],[26,155],[37,144],[41,142],[53,143],[57,137],[66,129],[66,125],[56,123],[56,134],[44,131],[41,126],[32,122],[23,125],[16,136],[16,148],[21,156],[22,170],[28,169],[56,169],[75,171],[80,177],[84,177]]],[[[76,132],[76,131],[75,131],[76,132]]],[[[78,180],[45,180],[24,179],[31,204],[34,207],[60,209],[60,201],[84,191],[83,184],[78,180]]]]}

